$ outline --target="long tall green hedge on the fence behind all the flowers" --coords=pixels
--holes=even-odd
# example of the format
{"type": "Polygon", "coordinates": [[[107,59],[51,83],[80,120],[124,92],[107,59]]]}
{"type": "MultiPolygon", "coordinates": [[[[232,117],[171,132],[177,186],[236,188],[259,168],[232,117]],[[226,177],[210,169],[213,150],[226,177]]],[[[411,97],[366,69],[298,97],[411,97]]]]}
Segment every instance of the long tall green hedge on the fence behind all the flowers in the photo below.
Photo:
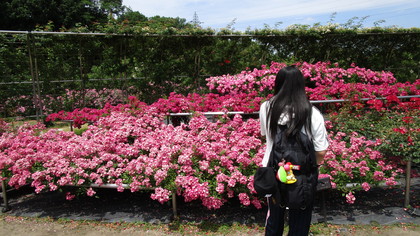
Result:
{"type": "Polygon", "coordinates": [[[106,34],[84,34],[82,27],[71,31],[78,33],[1,32],[0,99],[34,91],[59,95],[66,88],[134,86],[140,98],[152,102],[171,91],[199,90],[206,76],[271,61],[331,61],[343,68],[355,63],[391,71],[400,82],[414,81],[420,72],[419,28],[294,25],[243,33],[114,23],[93,30],[106,34]],[[32,80],[40,86],[34,88],[32,80]]]}

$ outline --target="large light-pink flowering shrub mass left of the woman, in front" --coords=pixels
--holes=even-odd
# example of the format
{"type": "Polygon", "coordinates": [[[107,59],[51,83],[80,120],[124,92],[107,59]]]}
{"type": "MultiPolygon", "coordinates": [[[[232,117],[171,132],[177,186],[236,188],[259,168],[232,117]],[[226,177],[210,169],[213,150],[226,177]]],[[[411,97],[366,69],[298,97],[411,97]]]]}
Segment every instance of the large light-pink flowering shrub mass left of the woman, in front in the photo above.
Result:
{"type": "MultiPolygon", "coordinates": [[[[219,208],[240,194],[242,204],[260,207],[253,195],[253,174],[262,160],[259,122],[204,116],[174,127],[152,110],[112,112],[81,136],[33,129],[7,133],[0,143],[0,169],[9,185],[30,183],[39,193],[72,184],[112,183],[118,191],[156,188],[153,199],[165,202],[172,192],[185,201],[201,200],[219,208]]],[[[88,188],[86,194],[94,195],[88,188]]],[[[67,194],[68,199],[73,194],[67,194]]]]}

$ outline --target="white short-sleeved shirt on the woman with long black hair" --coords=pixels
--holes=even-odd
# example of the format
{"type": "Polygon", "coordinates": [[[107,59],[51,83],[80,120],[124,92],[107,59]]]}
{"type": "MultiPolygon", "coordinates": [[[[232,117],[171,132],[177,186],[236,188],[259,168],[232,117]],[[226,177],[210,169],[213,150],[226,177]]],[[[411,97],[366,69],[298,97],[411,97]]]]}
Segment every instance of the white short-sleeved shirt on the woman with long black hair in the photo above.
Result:
{"type": "MultiPolygon", "coordinates": [[[[269,101],[261,104],[260,107],[260,123],[261,123],[261,135],[266,136],[267,147],[265,150],[264,158],[262,161],[263,166],[267,166],[268,158],[270,157],[271,149],[273,147],[273,139],[270,137],[269,132],[267,131],[267,113],[269,109],[269,101]]],[[[288,121],[287,116],[280,116],[279,124],[285,125],[288,121]]],[[[302,128],[302,132],[305,132],[305,129],[302,128]]],[[[321,112],[312,107],[312,117],[311,117],[311,132],[312,132],[312,141],[314,143],[315,151],[324,151],[328,148],[328,135],[327,130],[325,129],[324,117],[321,112]]]]}

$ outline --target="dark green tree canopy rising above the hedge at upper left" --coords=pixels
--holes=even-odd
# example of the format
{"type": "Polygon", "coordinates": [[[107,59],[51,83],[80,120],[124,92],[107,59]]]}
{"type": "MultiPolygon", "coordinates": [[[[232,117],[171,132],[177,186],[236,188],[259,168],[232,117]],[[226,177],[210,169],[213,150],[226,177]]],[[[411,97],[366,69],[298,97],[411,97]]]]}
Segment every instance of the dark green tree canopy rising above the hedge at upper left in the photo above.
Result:
{"type": "Polygon", "coordinates": [[[0,29],[32,31],[48,25],[59,31],[76,27],[96,29],[110,22],[155,27],[184,28],[183,18],[146,17],[122,4],[122,0],[4,0],[0,2],[0,29]]]}

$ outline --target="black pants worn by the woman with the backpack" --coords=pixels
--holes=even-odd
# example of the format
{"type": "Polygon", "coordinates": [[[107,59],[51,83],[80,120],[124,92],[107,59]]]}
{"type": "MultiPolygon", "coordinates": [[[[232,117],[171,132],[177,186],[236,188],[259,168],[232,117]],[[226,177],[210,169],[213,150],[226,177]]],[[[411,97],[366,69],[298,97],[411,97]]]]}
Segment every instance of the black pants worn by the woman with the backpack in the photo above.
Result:
{"type": "MultiPolygon", "coordinates": [[[[311,226],[313,206],[301,209],[288,209],[289,211],[289,236],[307,236],[311,226]]],[[[284,216],[286,208],[273,204],[268,199],[268,213],[265,224],[265,235],[283,235],[284,216]]]]}

